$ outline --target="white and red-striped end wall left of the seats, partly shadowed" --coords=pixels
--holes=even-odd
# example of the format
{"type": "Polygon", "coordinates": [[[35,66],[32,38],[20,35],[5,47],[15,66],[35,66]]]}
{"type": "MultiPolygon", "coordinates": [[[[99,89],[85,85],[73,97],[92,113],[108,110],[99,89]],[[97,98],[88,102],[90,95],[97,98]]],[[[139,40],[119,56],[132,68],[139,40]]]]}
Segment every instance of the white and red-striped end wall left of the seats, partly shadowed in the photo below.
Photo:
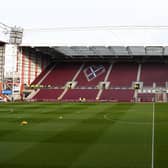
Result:
{"type": "Polygon", "coordinates": [[[20,76],[21,84],[30,85],[50,62],[48,55],[36,52],[29,47],[19,48],[16,71],[20,76]]]}

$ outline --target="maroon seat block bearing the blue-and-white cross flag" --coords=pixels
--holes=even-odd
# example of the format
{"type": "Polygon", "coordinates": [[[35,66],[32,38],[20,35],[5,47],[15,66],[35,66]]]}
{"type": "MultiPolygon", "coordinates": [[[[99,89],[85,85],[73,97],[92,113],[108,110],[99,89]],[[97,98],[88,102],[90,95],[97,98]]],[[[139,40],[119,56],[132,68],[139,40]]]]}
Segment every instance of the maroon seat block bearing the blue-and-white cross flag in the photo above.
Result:
{"type": "MultiPolygon", "coordinates": [[[[75,81],[78,82],[77,87],[75,89],[66,89],[65,94],[61,97],[63,100],[79,100],[80,98],[86,98],[89,101],[95,101],[98,94],[101,94],[101,89],[96,89],[97,85],[100,81],[104,81],[105,78],[108,78],[108,70],[110,70],[109,64],[103,64],[101,68],[103,71],[101,75],[98,74],[96,78],[94,78],[91,81],[88,81],[86,75],[86,69],[91,74],[93,72],[93,69],[90,71],[88,68],[92,67],[95,68],[94,70],[97,70],[96,68],[99,68],[100,65],[98,64],[92,64],[87,63],[85,66],[83,65],[80,70],[77,72],[78,75],[74,78],[75,81]],[[93,67],[94,65],[94,67],[93,67]],[[107,72],[106,72],[107,71],[107,72]]],[[[93,72],[95,73],[95,71],[93,72]]]]}

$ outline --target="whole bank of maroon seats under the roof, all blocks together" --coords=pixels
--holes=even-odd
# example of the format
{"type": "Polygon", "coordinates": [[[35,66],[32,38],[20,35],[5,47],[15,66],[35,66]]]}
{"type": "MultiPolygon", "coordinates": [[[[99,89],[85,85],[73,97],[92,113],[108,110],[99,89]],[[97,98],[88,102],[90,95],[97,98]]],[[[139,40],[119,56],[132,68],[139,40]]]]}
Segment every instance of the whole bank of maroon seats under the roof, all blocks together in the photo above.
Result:
{"type": "Polygon", "coordinates": [[[34,80],[33,84],[41,81],[42,86],[49,87],[39,89],[33,100],[79,101],[80,98],[85,98],[86,101],[132,102],[137,96],[136,100],[148,102],[152,101],[153,94],[135,94],[132,82],[139,78],[139,81],[144,83],[144,88],[150,89],[153,82],[158,86],[165,86],[167,76],[168,66],[161,63],[143,63],[138,73],[138,64],[135,62],[63,62],[48,66],[34,80]],[[51,72],[44,78],[49,70],[51,72]],[[73,88],[67,87],[66,84],[70,81],[75,81],[77,85],[73,88]],[[110,87],[99,87],[100,82],[104,81],[110,82],[110,87]]]}

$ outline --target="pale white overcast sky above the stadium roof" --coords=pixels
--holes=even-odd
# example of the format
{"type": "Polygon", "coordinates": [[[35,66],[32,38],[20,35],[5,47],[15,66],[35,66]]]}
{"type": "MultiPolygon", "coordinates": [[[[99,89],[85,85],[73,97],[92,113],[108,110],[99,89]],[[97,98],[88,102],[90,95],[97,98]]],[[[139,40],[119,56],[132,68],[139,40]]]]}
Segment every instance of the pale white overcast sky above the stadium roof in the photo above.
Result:
{"type": "Polygon", "coordinates": [[[24,28],[168,25],[167,0],[3,0],[0,22],[24,28]]]}

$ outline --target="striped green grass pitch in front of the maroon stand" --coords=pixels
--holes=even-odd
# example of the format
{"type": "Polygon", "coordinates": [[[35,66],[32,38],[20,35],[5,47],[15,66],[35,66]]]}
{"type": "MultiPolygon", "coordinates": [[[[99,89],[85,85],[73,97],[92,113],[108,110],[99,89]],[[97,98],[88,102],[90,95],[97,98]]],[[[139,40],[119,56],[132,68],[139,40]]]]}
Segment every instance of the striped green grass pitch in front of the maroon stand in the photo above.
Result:
{"type": "MultiPolygon", "coordinates": [[[[156,104],[155,168],[168,166],[167,109],[156,104]]],[[[151,139],[150,103],[0,104],[0,168],[151,168],[151,139]]]]}

